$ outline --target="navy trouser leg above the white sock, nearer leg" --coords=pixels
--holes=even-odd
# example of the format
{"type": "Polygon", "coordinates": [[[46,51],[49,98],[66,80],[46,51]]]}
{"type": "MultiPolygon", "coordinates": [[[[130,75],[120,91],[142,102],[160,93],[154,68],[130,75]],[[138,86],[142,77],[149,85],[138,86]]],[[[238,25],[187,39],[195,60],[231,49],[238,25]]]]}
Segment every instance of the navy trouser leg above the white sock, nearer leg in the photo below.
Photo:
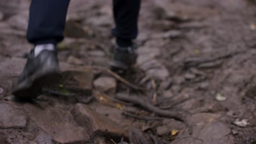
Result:
{"type": "Polygon", "coordinates": [[[32,0],[27,40],[33,44],[56,44],[63,40],[69,0],[32,0]]]}

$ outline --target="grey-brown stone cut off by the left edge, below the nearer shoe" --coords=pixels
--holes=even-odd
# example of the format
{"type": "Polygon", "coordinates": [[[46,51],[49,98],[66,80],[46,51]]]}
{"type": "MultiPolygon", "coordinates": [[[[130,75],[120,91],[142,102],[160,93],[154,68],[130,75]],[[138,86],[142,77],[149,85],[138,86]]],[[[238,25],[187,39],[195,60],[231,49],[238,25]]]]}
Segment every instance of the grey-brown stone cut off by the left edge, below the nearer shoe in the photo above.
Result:
{"type": "Polygon", "coordinates": [[[18,108],[0,103],[0,128],[25,128],[27,116],[18,108]]]}

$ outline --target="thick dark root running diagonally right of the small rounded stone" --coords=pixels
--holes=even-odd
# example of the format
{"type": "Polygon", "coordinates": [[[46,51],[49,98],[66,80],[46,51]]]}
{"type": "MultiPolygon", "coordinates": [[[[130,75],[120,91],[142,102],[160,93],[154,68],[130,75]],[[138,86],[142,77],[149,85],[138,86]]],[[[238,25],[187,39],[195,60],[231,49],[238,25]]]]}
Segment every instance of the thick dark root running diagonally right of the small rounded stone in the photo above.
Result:
{"type": "Polygon", "coordinates": [[[159,116],[170,117],[170,118],[177,119],[178,121],[182,121],[184,123],[187,123],[186,118],[188,116],[188,113],[186,113],[184,111],[183,112],[182,111],[174,112],[174,111],[161,110],[161,109],[159,109],[159,107],[156,107],[156,106],[148,103],[145,100],[139,99],[138,97],[132,97],[132,96],[128,97],[126,95],[118,94],[116,96],[116,98],[120,99],[120,100],[130,102],[132,104],[142,106],[144,109],[146,109],[148,111],[151,111],[151,112],[154,112],[159,116]]]}

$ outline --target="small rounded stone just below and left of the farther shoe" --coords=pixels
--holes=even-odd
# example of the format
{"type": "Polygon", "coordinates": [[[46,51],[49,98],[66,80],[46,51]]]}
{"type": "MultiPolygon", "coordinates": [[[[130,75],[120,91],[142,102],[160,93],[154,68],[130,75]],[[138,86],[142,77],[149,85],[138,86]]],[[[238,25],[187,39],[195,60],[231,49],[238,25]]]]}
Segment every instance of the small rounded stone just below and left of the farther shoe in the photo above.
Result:
{"type": "Polygon", "coordinates": [[[102,76],[94,81],[94,87],[100,92],[114,94],[117,88],[117,82],[113,77],[102,76]]]}

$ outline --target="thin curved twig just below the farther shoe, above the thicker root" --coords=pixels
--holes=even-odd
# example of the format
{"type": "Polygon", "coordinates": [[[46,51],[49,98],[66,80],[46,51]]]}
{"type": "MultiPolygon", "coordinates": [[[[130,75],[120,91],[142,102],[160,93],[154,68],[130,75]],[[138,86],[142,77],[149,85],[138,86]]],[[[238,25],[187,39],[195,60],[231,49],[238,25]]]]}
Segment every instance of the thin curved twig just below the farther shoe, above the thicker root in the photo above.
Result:
{"type": "Polygon", "coordinates": [[[129,87],[131,87],[133,89],[141,90],[141,91],[146,91],[145,88],[133,85],[132,83],[130,83],[129,81],[123,79],[121,76],[119,76],[118,74],[114,73],[112,70],[110,70],[108,68],[103,68],[103,67],[94,67],[94,68],[106,71],[108,74],[112,75],[115,79],[123,82],[125,85],[127,85],[127,86],[129,86],[129,87]]]}

